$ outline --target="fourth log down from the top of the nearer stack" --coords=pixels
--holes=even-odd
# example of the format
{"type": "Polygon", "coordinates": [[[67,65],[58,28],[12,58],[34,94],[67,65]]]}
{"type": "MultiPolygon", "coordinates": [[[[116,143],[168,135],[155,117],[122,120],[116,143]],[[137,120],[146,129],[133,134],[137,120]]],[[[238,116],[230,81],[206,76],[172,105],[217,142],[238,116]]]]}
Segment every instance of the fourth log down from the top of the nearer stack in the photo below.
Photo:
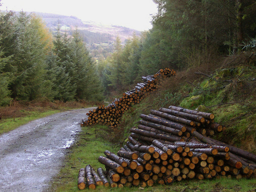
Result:
{"type": "Polygon", "coordinates": [[[167,126],[167,127],[172,127],[174,129],[181,130],[182,132],[186,131],[186,127],[184,125],[181,125],[181,124],[178,124],[178,123],[175,123],[175,122],[170,122],[170,121],[154,118],[154,117],[147,116],[147,115],[144,115],[144,114],[141,114],[140,118],[142,118],[146,121],[151,121],[153,123],[162,124],[162,125],[167,126]]]}

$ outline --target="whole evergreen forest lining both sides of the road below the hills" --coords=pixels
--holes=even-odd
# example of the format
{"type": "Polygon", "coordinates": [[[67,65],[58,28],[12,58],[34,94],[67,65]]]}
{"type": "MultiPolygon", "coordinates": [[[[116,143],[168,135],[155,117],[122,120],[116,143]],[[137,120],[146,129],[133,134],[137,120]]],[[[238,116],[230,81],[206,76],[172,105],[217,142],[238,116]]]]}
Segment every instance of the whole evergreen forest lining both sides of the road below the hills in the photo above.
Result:
{"type": "Polygon", "coordinates": [[[103,101],[161,68],[186,70],[256,46],[255,0],[153,1],[153,27],[125,43],[117,37],[97,60],[78,29],[53,34],[35,14],[1,12],[0,105],[103,101]]]}

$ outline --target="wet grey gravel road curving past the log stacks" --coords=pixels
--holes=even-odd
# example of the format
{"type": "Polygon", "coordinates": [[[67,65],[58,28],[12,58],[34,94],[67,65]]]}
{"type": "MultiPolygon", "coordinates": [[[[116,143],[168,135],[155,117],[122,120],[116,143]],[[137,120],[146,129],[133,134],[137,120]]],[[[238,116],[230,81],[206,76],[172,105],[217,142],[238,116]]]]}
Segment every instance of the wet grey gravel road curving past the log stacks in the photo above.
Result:
{"type": "Polygon", "coordinates": [[[44,192],[93,108],[57,113],[0,136],[0,192],[44,192]]]}

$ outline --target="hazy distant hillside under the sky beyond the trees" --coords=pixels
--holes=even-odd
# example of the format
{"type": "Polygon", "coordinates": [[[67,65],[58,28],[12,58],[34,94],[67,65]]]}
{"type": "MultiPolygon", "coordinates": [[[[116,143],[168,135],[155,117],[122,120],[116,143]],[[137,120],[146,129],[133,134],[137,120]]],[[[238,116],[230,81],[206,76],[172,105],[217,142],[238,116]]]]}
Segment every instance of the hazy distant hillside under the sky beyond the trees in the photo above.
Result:
{"type": "Polygon", "coordinates": [[[98,57],[100,54],[104,57],[108,56],[108,53],[113,51],[113,43],[116,41],[117,36],[122,43],[125,43],[134,33],[140,35],[140,31],[131,28],[82,21],[74,16],[39,12],[35,12],[35,14],[44,20],[46,26],[53,33],[57,30],[58,25],[61,25],[61,31],[68,32],[70,35],[77,29],[93,57],[98,57]]]}

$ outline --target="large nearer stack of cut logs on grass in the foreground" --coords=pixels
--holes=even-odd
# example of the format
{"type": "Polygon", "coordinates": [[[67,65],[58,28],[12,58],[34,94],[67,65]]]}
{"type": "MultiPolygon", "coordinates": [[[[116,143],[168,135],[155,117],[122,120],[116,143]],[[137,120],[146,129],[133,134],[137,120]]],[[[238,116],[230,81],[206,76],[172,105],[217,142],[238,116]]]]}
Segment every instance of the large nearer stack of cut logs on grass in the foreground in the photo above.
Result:
{"type": "Polygon", "coordinates": [[[94,171],[90,165],[79,172],[78,187],[153,186],[196,178],[256,176],[256,155],[207,136],[225,127],[212,113],[169,106],[141,114],[128,141],[114,154],[105,151],[94,171]],[[99,183],[102,181],[102,183],[99,183]]]}

